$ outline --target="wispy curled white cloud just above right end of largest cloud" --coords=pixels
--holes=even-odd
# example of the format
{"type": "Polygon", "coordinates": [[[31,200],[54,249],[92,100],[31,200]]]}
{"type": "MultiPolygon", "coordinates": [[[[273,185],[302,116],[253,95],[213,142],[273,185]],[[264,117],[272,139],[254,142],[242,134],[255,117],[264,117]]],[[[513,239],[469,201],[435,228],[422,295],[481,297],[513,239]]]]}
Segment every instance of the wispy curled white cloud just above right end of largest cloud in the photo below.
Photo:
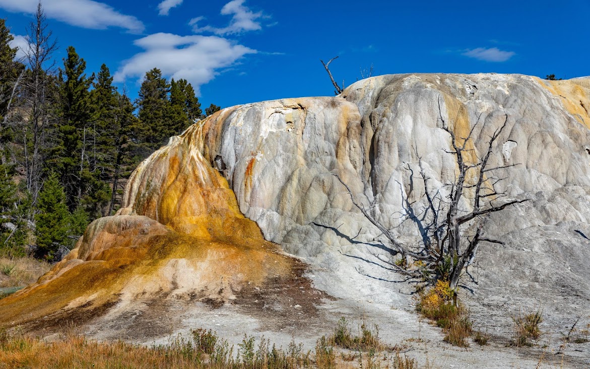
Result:
{"type": "Polygon", "coordinates": [[[258,19],[264,18],[262,12],[253,12],[247,6],[244,6],[244,0],[232,0],[221,8],[222,15],[231,15],[230,24],[224,28],[212,27],[206,25],[199,27],[199,22],[205,19],[204,17],[196,17],[191,19],[189,25],[195,33],[213,32],[217,35],[239,34],[245,31],[257,31],[262,29],[262,25],[258,19]]]}

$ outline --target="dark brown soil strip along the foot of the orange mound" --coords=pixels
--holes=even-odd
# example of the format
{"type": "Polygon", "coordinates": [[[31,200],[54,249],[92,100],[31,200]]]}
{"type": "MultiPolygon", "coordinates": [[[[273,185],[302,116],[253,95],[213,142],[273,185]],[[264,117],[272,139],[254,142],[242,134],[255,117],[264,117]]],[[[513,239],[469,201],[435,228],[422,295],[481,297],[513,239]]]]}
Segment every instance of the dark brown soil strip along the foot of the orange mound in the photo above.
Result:
{"type": "Polygon", "coordinates": [[[120,303],[119,296],[113,295],[103,304],[87,302],[67,311],[60,309],[45,317],[22,322],[19,327],[24,332],[46,337],[71,331],[90,335],[103,331],[112,332],[108,334],[111,338],[145,342],[172,334],[178,328],[181,313],[194,306],[196,301],[211,309],[235,308],[240,314],[259,319],[263,329],[319,327],[323,319],[317,306],[323,299],[333,298],[313,288],[312,281],[304,276],[307,270],[304,262],[285,258],[291,265],[290,272],[268,276],[261,285],[246,284],[240,291],[232,291],[236,298],[229,301],[222,297],[225,295],[223,291],[219,291],[219,298],[194,292],[186,299],[162,292],[135,304],[135,308],[115,312],[112,318],[106,319],[106,315],[114,312],[120,303]]]}

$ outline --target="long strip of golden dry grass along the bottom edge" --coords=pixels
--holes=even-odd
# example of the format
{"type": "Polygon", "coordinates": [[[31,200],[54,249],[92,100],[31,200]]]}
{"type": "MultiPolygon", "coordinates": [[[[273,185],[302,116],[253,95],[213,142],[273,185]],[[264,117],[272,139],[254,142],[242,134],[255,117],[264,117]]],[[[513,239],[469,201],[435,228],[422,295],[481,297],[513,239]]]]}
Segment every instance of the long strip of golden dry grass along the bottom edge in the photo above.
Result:
{"type": "MultiPolygon", "coordinates": [[[[237,350],[211,330],[192,330],[167,345],[145,347],[123,341],[96,342],[74,334],[48,342],[30,335],[0,331],[0,369],[166,368],[166,369],[418,369],[413,358],[368,352],[337,355],[329,338],[317,340],[314,351],[291,341],[284,350],[262,337],[244,335],[237,350]]],[[[430,364],[424,367],[432,368],[430,364]]]]}

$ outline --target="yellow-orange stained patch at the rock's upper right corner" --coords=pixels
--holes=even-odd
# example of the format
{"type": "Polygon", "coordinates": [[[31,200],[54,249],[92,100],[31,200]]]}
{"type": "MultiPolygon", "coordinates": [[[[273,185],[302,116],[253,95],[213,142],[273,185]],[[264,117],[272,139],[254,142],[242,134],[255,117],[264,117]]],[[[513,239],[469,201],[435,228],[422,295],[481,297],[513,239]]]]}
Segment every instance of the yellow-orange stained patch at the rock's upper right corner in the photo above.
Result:
{"type": "Polygon", "coordinates": [[[535,78],[546,90],[559,97],[569,114],[572,114],[586,128],[590,128],[590,82],[586,80],[548,81],[535,78]]]}

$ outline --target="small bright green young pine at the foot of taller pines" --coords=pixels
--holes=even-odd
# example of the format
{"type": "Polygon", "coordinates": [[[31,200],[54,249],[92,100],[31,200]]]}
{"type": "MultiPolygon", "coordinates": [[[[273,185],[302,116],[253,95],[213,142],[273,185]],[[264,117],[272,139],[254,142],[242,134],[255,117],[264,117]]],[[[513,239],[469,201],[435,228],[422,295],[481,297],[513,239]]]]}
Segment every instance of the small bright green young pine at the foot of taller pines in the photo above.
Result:
{"type": "Polygon", "coordinates": [[[65,204],[64,187],[57,174],[52,172],[45,180],[35,215],[35,236],[37,239],[37,256],[54,261],[61,246],[68,245],[71,215],[65,204]]]}

